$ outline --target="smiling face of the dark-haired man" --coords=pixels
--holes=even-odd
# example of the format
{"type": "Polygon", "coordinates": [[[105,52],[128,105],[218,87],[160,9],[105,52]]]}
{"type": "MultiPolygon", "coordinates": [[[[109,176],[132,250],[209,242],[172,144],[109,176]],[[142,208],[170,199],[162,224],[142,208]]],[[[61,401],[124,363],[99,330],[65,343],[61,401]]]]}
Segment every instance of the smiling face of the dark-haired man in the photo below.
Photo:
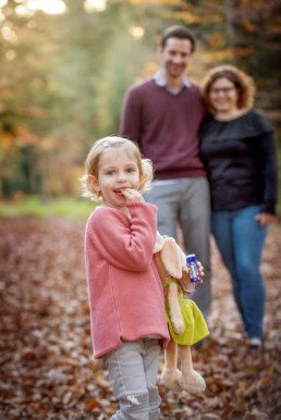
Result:
{"type": "Polygon", "coordinates": [[[180,78],[192,61],[192,42],[190,39],[168,38],[159,53],[166,76],[180,78]]]}

